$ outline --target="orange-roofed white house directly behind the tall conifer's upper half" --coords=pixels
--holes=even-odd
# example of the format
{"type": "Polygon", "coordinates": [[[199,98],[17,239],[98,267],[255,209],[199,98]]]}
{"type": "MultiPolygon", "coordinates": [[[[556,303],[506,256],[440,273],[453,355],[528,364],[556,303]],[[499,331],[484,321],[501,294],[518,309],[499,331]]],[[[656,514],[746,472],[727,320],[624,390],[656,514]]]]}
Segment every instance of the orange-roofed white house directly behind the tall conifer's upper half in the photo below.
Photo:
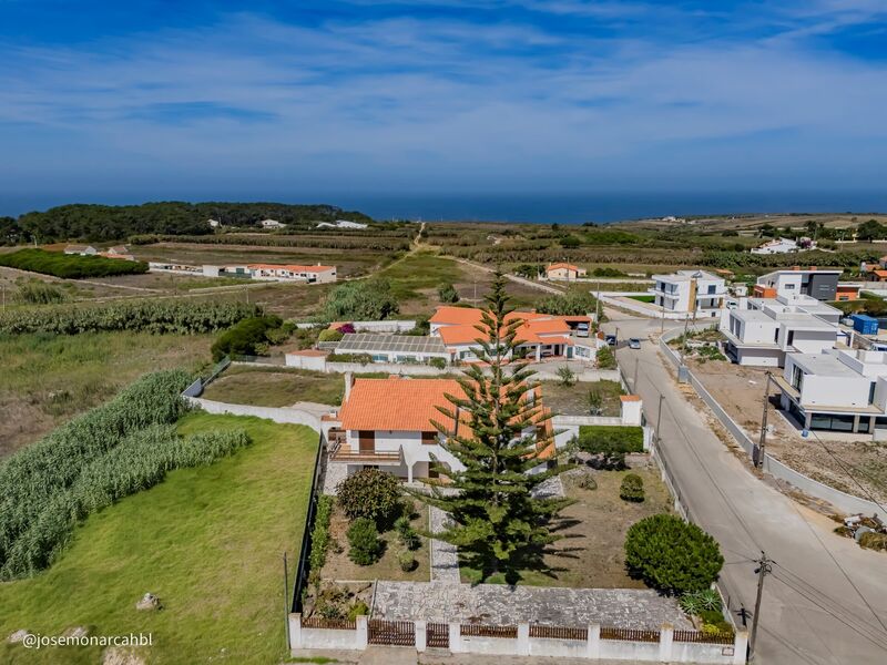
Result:
{"type": "MultiPolygon", "coordinates": [[[[451,360],[477,361],[473,349],[486,338],[482,316],[482,310],[472,307],[438,307],[428,319],[431,336],[443,340],[451,360]]],[[[512,311],[506,321],[514,320],[521,321],[518,348],[531,360],[593,360],[598,352],[598,339],[590,335],[591,317],[512,311]]]]}

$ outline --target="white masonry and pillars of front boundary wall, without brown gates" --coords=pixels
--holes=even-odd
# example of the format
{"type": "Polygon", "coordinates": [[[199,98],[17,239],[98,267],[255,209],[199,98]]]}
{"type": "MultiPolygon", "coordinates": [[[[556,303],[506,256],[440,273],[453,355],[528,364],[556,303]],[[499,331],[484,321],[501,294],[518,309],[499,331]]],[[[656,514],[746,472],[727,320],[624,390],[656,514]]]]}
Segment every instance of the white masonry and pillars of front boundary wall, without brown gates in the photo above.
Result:
{"type": "MultiPolygon", "coordinates": [[[[402,623],[402,622],[398,622],[402,623]]],[[[426,651],[424,621],[412,622],[416,646],[401,647],[426,651]]],[[[603,640],[601,626],[588,626],[585,640],[559,640],[530,637],[530,624],[518,624],[518,636],[488,637],[462,635],[459,623],[449,624],[449,651],[453,654],[487,654],[502,656],[554,656],[588,658],[591,661],[643,661],[651,663],[712,663],[742,665],[745,663],[747,633],[738,631],[733,644],[707,644],[675,642],[674,630],[663,624],[659,630],[659,642],[634,642],[631,640],[603,640]]],[[[294,656],[303,649],[336,649],[360,652],[368,644],[368,618],[358,616],[354,630],[307,628],[302,625],[302,615],[289,615],[289,648],[294,656]]]]}

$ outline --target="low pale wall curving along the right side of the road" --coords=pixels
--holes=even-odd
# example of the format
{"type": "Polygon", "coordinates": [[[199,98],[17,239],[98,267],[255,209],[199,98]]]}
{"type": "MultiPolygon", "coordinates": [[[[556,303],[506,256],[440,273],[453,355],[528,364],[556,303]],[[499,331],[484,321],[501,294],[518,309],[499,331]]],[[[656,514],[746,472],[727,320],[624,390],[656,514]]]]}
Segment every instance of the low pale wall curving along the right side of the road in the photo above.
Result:
{"type": "MultiPolygon", "coordinates": [[[[662,352],[675,367],[680,367],[681,360],[669,347],[667,342],[677,337],[680,334],[681,330],[670,330],[660,338],[659,342],[662,352]]],[[[751,437],[748,437],[745,430],[743,430],[738,423],[730,417],[723,407],[717,403],[717,400],[712,397],[712,395],[705,389],[705,386],[702,385],[702,382],[692,371],[687,369],[686,376],[690,380],[690,385],[693,387],[700,398],[702,398],[702,401],[704,401],[712,412],[714,412],[721,424],[724,426],[724,428],[736,440],[736,442],[748,454],[748,457],[753,457],[755,454],[757,444],[751,439],[751,437]]],[[[763,468],[767,473],[773,475],[773,478],[785,481],[798,490],[809,494],[810,497],[827,501],[837,510],[846,513],[875,514],[881,512],[880,508],[874,501],[868,501],[860,497],[854,497],[853,494],[848,494],[846,492],[842,492],[840,490],[836,490],[835,488],[828,487],[827,484],[824,484],[809,478],[808,475],[801,473],[799,471],[792,469],[784,462],[781,462],[769,454],[764,456],[763,468]]]]}

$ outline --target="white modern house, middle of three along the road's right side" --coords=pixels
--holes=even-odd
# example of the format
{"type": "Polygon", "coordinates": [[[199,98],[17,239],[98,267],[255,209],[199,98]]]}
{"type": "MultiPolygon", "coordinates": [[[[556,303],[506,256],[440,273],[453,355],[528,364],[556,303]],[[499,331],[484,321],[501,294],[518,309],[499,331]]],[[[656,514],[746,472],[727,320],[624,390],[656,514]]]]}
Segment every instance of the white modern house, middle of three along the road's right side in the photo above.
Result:
{"type": "Polygon", "coordinates": [[[843,341],[840,314],[807,296],[742,298],[740,307],[724,311],[721,332],[734,362],[782,367],[788,352],[818,354],[843,341]]]}

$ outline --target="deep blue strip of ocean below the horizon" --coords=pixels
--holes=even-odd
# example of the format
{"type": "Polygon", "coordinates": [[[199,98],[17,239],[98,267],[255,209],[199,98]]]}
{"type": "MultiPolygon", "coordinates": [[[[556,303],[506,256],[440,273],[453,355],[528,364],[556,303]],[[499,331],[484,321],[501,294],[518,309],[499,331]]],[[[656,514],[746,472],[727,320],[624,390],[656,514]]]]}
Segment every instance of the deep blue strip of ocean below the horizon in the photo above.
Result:
{"type": "Polygon", "coordinates": [[[705,193],[565,193],[565,194],[267,194],[263,196],[2,196],[0,215],[17,216],[67,203],[108,205],[150,201],[228,201],[275,203],[328,203],[360,211],[376,219],[425,222],[504,222],[533,224],[583,224],[741,214],[887,212],[884,192],[705,192],[705,193]]]}

